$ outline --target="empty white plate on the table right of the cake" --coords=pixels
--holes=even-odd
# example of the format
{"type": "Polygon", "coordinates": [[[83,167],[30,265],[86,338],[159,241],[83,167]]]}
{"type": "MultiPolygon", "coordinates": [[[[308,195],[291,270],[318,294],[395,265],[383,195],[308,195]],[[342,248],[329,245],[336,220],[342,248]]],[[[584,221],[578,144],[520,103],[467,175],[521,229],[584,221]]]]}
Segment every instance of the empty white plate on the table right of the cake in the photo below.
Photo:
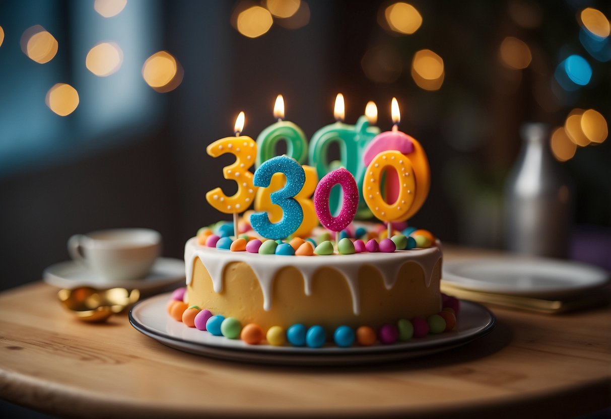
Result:
{"type": "Polygon", "coordinates": [[[584,263],[516,256],[444,261],[442,278],[474,291],[561,297],[604,285],[609,272],[584,263]]]}

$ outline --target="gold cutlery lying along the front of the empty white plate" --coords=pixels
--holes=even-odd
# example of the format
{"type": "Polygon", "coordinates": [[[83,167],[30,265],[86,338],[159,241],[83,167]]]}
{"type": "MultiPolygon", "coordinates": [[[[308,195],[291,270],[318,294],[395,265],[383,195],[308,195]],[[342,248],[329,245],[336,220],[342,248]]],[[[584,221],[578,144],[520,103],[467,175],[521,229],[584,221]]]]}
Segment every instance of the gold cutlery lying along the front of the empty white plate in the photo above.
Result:
{"type": "Polygon", "coordinates": [[[487,293],[485,291],[466,290],[447,281],[441,282],[441,292],[459,299],[477,301],[483,304],[493,304],[502,307],[519,308],[530,312],[557,314],[582,308],[591,308],[609,304],[609,288],[580,294],[572,299],[548,300],[536,297],[523,297],[511,294],[487,293]]]}

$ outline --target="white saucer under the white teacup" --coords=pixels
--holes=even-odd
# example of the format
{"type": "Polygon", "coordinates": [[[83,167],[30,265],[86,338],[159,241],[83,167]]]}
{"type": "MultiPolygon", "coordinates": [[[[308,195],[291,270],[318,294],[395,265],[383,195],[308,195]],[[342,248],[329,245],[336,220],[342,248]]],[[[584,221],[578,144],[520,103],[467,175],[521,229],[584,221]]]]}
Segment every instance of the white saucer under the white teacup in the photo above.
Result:
{"type": "Polygon", "coordinates": [[[93,288],[122,287],[137,288],[140,291],[160,290],[170,285],[185,283],[185,262],[174,258],[158,258],[147,277],[128,281],[106,281],[95,272],[73,260],[56,263],[43,272],[46,283],[58,288],[76,288],[92,286],[93,288]]]}

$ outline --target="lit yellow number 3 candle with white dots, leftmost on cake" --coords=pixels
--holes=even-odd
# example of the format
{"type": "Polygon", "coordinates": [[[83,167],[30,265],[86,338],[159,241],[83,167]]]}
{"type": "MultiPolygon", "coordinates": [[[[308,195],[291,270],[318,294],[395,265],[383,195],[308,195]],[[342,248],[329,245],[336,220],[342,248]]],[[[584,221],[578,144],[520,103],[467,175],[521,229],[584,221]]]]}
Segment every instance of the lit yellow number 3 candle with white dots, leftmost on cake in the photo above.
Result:
{"type": "Polygon", "coordinates": [[[238,214],[246,211],[255,198],[257,188],[253,184],[253,175],[248,169],[255,162],[257,143],[248,136],[240,136],[244,128],[244,112],[240,112],[235,122],[235,137],[225,137],[208,145],[208,155],[218,157],[225,153],[235,156],[235,162],[223,167],[223,177],[234,180],[238,191],[228,197],[221,188],[214,188],[206,194],[206,200],[214,209],[225,214],[233,214],[233,234],[238,233],[238,214]]]}

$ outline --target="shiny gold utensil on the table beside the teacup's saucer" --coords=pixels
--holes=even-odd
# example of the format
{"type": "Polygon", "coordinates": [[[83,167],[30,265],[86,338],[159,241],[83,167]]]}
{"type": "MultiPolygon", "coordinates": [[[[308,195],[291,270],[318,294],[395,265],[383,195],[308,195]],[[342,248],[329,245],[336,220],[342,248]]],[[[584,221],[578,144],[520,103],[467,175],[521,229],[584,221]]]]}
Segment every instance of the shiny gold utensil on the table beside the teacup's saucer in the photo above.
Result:
{"type": "Polygon", "coordinates": [[[125,288],[95,290],[89,286],[81,286],[73,290],[59,290],[57,298],[76,318],[101,322],[138,301],[140,291],[125,288]]]}

